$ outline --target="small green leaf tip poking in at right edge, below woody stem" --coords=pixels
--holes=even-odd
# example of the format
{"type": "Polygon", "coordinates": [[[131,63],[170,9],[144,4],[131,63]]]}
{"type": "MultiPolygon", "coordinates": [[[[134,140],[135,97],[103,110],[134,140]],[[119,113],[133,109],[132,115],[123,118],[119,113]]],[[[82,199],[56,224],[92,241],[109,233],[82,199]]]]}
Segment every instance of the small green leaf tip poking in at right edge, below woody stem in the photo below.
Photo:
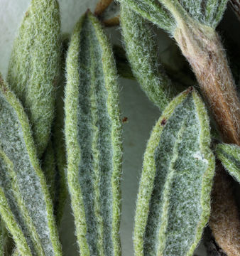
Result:
{"type": "Polygon", "coordinates": [[[217,158],[222,161],[224,168],[240,183],[240,146],[235,144],[218,144],[217,158]]]}

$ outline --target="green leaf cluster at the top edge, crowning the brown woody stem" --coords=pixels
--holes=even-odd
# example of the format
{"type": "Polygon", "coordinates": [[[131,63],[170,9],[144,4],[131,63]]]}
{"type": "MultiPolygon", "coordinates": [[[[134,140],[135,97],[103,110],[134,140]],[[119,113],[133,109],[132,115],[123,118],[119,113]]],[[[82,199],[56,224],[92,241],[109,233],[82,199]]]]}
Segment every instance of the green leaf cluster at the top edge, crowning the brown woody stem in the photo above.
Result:
{"type": "Polygon", "coordinates": [[[189,18],[216,28],[227,6],[228,0],[118,0],[127,4],[143,18],[174,34],[178,23],[189,18]],[[180,21],[180,19],[182,21],[180,21]]]}

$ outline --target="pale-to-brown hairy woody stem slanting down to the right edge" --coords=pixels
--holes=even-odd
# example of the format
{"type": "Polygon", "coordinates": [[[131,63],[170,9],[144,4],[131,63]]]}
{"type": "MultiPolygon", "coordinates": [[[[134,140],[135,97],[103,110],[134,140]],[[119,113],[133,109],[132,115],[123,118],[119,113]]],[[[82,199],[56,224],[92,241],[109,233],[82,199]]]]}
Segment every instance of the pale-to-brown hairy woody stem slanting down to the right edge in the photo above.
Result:
{"type": "Polygon", "coordinates": [[[182,23],[174,37],[192,66],[224,142],[240,145],[240,102],[219,36],[200,23],[182,23]]]}

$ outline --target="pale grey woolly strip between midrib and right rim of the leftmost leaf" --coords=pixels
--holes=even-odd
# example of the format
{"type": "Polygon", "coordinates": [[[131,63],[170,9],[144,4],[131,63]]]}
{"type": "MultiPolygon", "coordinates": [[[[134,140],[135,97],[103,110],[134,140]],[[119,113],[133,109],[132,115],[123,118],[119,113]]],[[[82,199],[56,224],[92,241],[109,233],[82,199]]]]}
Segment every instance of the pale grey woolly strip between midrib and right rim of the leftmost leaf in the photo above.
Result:
{"type": "Polygon", "coordinates": [[[47,210],[40,181],[34,171],[28,156],[26,144],[23,140],[21,124],[18,122],[15,110],[0,95],[0,117],[3,122],[0,123],[1,148],[13,162],[14,171],[17,174],[18,186],[21,195],[36,225],[43,250],[46,255],[54,255],[53,245],[50,240],[50,231],[48,229],[47,210]]]}

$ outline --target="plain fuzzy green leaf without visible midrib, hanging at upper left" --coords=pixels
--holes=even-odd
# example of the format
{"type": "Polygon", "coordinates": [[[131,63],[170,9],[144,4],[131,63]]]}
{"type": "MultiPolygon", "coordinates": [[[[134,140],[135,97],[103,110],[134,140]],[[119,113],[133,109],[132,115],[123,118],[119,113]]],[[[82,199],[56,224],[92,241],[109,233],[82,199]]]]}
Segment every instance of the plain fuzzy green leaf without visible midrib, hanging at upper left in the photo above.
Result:
{"type": "Polygon", "coordinates": [[[58,2],[32,0],[13,43],[7,81],[28,114],[39,156],[50,137],[60,53],[58,2]]]}

